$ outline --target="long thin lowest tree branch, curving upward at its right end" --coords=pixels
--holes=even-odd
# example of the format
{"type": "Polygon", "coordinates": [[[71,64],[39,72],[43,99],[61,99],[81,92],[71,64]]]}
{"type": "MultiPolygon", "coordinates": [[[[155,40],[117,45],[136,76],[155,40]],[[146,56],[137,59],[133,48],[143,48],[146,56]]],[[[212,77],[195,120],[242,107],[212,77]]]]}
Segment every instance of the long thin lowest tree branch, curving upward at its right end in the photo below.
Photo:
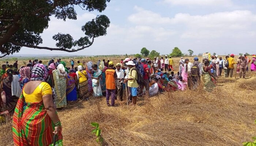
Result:
{"type": "Polygon", "coordinates": [[[94,37],[90,43],[90,45],[87,45],[87,46],[83,46],[79,49],[72,49],[72,50],[68,50],[68,49],[65,49],[65,48],[50,48],[50,47],[39,47],[39,46],[34,46],[34,45],[25,45],[25,44],[22,44],[22,43],[18,43],[18,42],[15,42],[15,41],[9,41],[10,43],[14,44],[14,45],[17,45],[17,46],[22,46],[22,47],[29,47],[29,48],[35,48],[35,49],[45,49],[45,50],[51,50],[51,51],[66,51],[66,52],[77,52],[77,51],[80,51],[80,50],[83,50],[87,47],[90,47],[91,45],[93,45],[93,42],[94,42],[94,37]]]}

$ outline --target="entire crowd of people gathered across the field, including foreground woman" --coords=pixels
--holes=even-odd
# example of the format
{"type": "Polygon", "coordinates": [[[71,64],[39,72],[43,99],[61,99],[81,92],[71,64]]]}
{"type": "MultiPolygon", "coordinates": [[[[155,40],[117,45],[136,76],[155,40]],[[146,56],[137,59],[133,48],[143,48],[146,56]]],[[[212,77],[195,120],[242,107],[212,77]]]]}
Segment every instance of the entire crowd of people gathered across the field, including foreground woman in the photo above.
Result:
{"type": "Polygon", "coordinates": [[[62,143],[61,123],[56,109],[61,110],[77,100],[106,96],[106,105],[116,106],[115,100],[136,105],[137,97],[152,97],[163,92],[197,89],[201,83],[206,91],[216,87],[218,77],[233,77],[234,65],[237,73],[245,78],[251,64],[256,71],[256,56],[250,60],[241,55],[234,60],[234,54],[225,59],[218,55],[211,58],[198,57],[177,62],[171,56],[150,58],[125,58],[114,64],[105,59],[97,62],[80,62],[71,59],[71,67],[66,62],[51,59],[47,65],[35,59],[18,69],[8,61],[2,65],[0,114],[13,115],[13,138],[15,145],[50,145],[57,135],[62,143]],[[124,92],[125,91],[125,92],[124,92]],[[110,100],[110,101],[109,101],[110,100]],[[37,127],[37,128],[34,128],[37,127]]]}

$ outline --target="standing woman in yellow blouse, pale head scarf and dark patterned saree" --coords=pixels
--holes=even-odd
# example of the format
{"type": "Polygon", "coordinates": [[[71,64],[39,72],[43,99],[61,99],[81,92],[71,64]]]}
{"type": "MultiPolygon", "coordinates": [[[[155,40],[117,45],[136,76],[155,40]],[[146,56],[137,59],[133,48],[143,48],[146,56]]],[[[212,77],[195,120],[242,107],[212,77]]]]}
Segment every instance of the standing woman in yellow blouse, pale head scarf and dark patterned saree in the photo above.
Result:
{"type": "Polygon", "coordinates": [[[88,100],[88,81],[87,81],[87,72],[83,70],[81,65],[78,66],[78,71],[76,72],[76,76],[78,78],[78,92],[79,99],[88,100]]]}

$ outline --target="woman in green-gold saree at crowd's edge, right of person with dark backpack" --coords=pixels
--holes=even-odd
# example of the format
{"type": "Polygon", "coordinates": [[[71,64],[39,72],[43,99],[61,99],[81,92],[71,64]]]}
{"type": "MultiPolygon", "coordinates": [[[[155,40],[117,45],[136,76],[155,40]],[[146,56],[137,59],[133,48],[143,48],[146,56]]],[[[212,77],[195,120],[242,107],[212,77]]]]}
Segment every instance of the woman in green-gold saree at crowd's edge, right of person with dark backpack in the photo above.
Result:
{"type": "Polygon", "coordinates": [[[215,88],[215,76],[211,73],[211,69],[208,67],[210,62],[208,60],[204,61],[203,67],[203,83],[204,83],[204,90],[210,92],[212,89],[215,88]]]}

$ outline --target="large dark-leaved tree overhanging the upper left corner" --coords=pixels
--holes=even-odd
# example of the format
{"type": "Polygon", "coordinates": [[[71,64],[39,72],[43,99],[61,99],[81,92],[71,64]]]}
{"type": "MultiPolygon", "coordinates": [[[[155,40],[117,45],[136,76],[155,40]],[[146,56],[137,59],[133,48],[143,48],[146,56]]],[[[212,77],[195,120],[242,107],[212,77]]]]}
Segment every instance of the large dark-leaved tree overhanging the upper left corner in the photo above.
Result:
{"type": "MultiPolygon", "coordinates": [[[[48,28],[50,16],[57,19],[76,20],[75,6],[83,10],[102,12],[110,0],[1,0],[0,1],[0,53],[17,53],[21,47],[75,52],[93,45],[94,39],[106,35],[110,20],[105,15],[82,26],[84,37],[74,40],[69,34],[53,35],[56,48],[39,47],[40,34],[48,28]]],[[[3,57],[3,56],[2,56],[3,57]]]]}

